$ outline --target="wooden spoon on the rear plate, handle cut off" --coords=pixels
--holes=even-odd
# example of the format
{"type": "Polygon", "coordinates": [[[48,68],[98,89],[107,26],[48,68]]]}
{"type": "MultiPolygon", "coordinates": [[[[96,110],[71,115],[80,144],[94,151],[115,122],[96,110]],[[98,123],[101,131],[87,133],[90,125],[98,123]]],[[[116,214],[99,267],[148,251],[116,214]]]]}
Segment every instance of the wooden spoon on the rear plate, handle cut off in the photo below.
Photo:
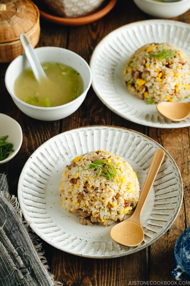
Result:
{"type": "Polygon", "coordinates": [[[182,121],[190,115],[190,102],[160,102],[156,109],[166,119],[182,121]]]}

